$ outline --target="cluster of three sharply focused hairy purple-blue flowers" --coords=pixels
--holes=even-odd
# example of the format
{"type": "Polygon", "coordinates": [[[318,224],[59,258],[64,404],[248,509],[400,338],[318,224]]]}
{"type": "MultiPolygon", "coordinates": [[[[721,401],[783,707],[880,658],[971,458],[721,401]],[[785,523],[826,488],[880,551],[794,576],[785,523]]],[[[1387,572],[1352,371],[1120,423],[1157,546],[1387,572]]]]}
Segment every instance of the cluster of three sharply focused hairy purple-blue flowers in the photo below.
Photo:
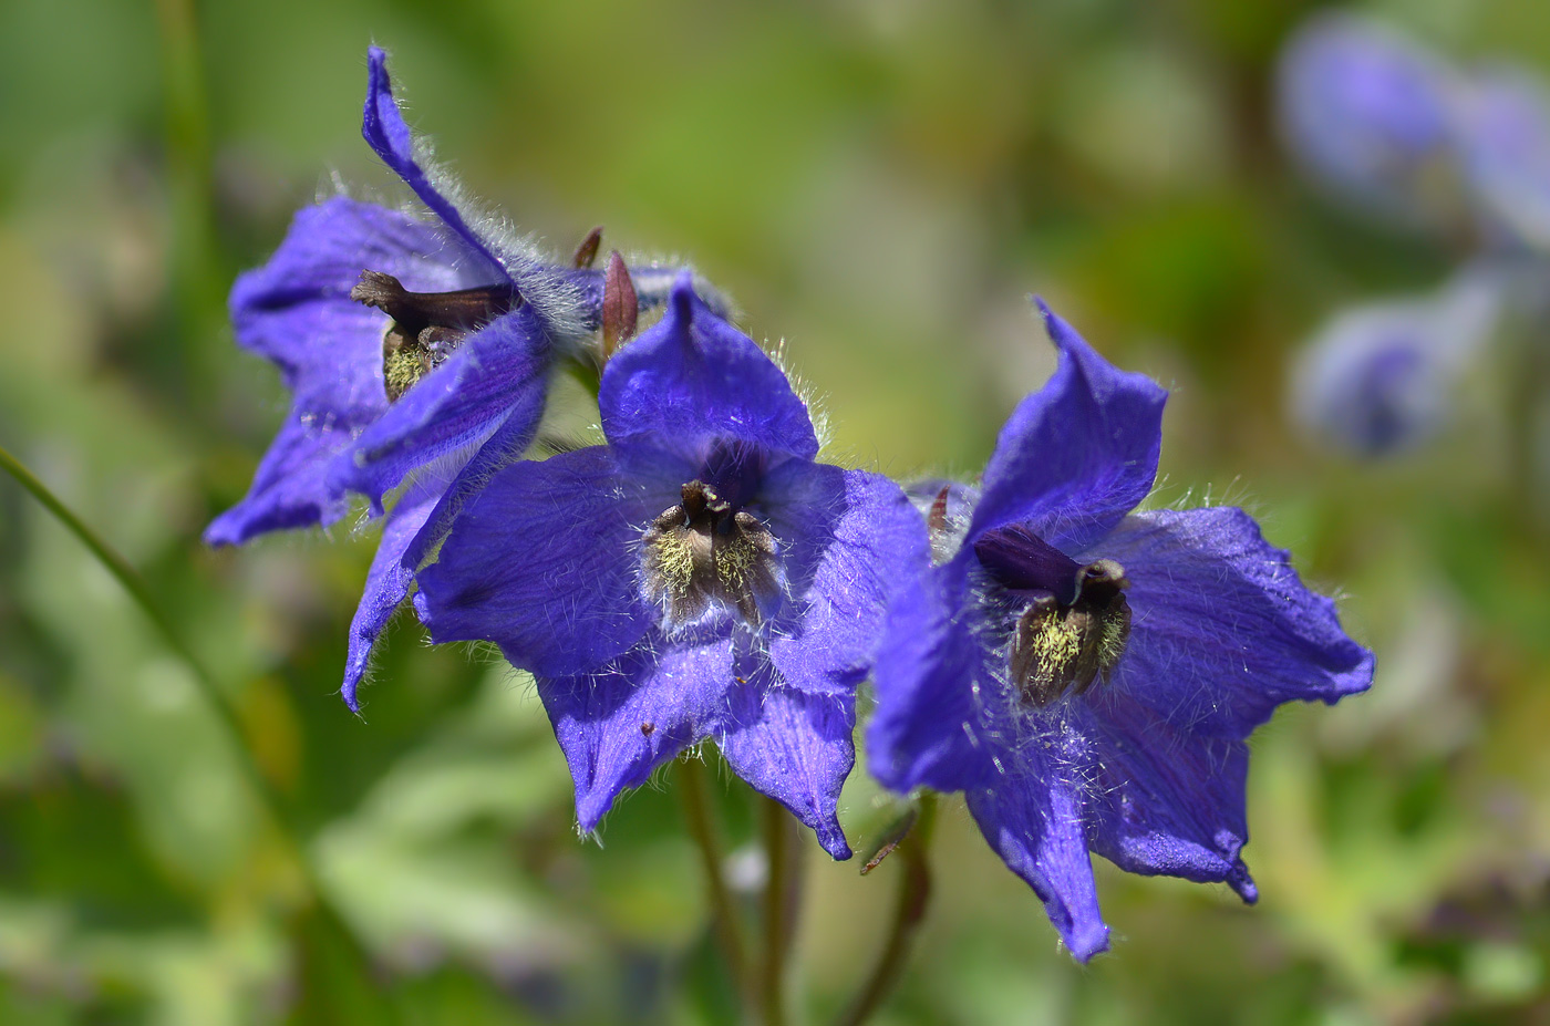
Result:
{"type": "Polygon", "coordinates": [[[428,214],[330,200],[237,281],[237,339],[294,400],[206,532],[329,524],[352,494],[383,519],[352,708],[412,594],[434,642],[532,674],[583,831],[711,741],[848,859],[871,682],[871,772],[964,792],[1077,958],[1107,947],[1088,852],[1254,899],[1245,739],[1282,702],[1361,691],[1372,656],[1243,511],[1135,511],[1159,386],[1040,307],[1060,366],[983,479],[907,491],[820,460],[786,372],[688,271],[556,263],[473,215],[375,50],[366,138],[428,214]],[[601,367],[601,443],[524,459],[566,361],[601,367]]]}

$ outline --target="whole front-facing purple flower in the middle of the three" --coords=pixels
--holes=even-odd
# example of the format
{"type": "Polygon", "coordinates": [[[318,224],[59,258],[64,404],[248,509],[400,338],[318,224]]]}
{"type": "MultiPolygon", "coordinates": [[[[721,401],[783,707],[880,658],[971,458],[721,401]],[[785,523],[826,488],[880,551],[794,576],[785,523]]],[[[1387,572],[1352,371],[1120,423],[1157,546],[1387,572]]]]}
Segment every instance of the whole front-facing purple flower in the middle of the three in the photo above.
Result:
{"type": "Polygon", "coordinates": [[[598,406],[608,445],[508,467],[463,507],[418,573],[432,640],[491,640],[533,673],[583,831],[711,738],[849,857],[856,687],[925,563],[921,516],[888,479],[815,462],[786,375],[687,277],[598,406]]]}

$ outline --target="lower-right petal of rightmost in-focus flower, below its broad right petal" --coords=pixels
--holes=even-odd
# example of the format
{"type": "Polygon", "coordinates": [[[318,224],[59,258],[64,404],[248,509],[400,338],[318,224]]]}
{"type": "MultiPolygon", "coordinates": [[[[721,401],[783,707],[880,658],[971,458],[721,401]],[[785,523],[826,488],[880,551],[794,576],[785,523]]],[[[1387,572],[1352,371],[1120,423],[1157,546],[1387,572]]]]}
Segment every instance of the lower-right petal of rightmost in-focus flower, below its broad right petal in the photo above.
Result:
{"type": "Polygon", "coordinates": [[[1130,873],[1228,880],[1254,900],[1238,857],[1248,840],[1245,742],[1181,730],[1107,688],[1070,702],[1066,714],[1091,745],[1093,851],[1130,873]]]}

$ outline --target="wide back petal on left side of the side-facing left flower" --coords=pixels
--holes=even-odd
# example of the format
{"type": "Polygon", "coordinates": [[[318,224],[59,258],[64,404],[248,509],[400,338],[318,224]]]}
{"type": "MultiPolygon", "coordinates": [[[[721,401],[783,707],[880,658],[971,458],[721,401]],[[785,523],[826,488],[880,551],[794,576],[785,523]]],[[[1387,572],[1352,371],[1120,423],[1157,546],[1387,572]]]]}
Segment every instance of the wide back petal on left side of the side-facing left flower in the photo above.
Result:
{"type": "Polygon", "coordinates": [[[239,544],[344,515],[344,494],[329,484],[327,465],[388,408],[386,319],[352,301],[350,287],[363,267],[425,291],[474,285],[454,259],[439,231],[335,197],[298,212],[268,263],[237,277],[231,290],[237,344],[276,363],[294,400],[248,496],[209,525],[206,541],[239,544]]]}

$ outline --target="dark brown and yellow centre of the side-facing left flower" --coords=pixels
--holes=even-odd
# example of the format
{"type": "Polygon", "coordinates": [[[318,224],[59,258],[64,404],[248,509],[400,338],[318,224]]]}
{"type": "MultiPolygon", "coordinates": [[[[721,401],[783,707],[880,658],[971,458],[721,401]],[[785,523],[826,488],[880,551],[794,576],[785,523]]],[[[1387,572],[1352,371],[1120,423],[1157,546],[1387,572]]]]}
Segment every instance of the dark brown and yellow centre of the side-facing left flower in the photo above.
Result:
{"type": "Polygon", "coordinates": [[[409,291],[381,271],[361,271],[350,299],[392,318],[383,335],[383,387],[389,403],[442,366],[468,333],[522,304],[510,285],[409,291]]]}

